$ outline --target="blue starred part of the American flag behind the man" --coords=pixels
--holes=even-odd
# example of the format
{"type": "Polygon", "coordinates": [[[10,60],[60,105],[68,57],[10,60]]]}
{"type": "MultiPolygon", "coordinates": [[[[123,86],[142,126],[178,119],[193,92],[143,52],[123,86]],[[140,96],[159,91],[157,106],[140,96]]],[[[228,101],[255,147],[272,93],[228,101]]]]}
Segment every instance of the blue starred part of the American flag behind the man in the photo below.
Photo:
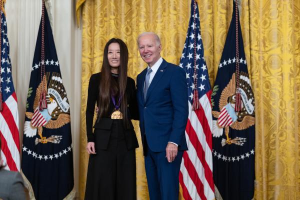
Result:
{"type": "Polygon", "coordinates": [[[208,79],[207,66],[204,59],[203,43],[200,34],[200,18],[198,5],[196,5],[195,13],[193,13],[194,0],[191,1],[190,19],[187,29],[186,39],[184,43],[183,52],[180,58],[179,66],[185,70],[187,80],[188,100],[192,104],[193,90],[195,88],[194,78],[197,79],[198,98],[205,95],[210,90],[210,83],[208,79]],[[195,19],[195,23],[194,23],[195,19]],[[194,31],[195,29],[195,31],[194,31]],[[194,40],[196,40],[196,55],[194,56],[194,40]],[[194,60],[196,59],[196,66],[194,60]],[[194,74],[194,67],[196,67],[196,74],[194,74]]]}

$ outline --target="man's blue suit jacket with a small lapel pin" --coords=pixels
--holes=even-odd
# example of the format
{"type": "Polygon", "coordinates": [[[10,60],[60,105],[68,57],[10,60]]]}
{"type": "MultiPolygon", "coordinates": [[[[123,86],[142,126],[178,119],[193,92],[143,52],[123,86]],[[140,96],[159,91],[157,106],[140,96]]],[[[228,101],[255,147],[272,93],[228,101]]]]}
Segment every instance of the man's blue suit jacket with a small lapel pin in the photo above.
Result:
{"type": "Polygon", "coordinates": [[[184,70],[163,59],[144,98],[146,72],[147,68],[136,78],[143,149],[145,135],[148,147],[154,152],[165,151],[168,141],[178,144],[178,150],[187,150],[185,126],[188,117],[188,97],[184,70]]]}

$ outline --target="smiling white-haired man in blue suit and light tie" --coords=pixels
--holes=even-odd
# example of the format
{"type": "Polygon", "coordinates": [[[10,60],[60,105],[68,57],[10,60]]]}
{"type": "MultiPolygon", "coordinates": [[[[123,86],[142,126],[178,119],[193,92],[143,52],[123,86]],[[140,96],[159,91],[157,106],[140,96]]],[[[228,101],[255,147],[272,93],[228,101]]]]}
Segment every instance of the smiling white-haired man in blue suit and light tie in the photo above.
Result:
{"type": "Polygon", "coordinates": [[[160,56],[159,37],[153,32],[137,38],[147,63],[137,75],[139,127],[150,199],[178,199],[179,170],[188,117],[187,83],[182,68],[160,56]]]}

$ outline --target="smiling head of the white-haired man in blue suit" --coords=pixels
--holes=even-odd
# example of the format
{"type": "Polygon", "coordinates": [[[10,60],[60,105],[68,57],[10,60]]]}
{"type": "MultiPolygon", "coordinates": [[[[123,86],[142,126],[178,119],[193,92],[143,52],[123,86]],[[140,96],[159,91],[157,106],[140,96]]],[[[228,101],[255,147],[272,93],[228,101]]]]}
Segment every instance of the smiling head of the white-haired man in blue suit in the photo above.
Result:
{"type": "Polygon", "coordinates": [[[138,39],[138,50],[141,58],[151,67],[160,58],[161,45],[157,44],[155,35],[143,35],[138,39]]]}

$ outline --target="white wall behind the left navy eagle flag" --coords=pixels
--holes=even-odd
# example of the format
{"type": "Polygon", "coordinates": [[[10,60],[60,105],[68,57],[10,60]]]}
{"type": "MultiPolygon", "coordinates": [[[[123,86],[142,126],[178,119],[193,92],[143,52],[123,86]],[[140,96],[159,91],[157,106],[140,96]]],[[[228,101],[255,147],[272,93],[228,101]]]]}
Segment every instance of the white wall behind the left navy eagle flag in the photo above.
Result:
{"type": "MultiPolygon", "coordinates": [[[[78,191],[81,29],[77,28],[75,23],[75,0],[50,1],[54,42],[70,103],[74,186],[78,191]]],[[[7,0],[5,11],[13,83],[18,99],[21,143],[30,68],[41,16],[41,0],[7,0]]]]}

